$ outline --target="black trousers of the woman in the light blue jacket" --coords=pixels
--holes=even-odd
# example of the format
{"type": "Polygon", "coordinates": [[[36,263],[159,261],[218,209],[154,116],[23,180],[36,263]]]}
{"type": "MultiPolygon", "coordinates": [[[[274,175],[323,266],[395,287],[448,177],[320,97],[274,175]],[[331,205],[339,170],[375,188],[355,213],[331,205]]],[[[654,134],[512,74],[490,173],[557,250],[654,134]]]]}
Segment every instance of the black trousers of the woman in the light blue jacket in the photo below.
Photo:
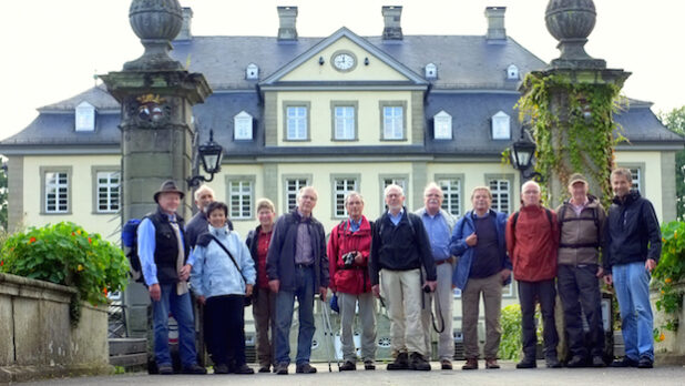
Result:
{"type": "Polygon", "coordinates": [[[235,368],[245,364],[245,296],[224,295],[207,298],[205,321],[209,334],[205,343],[215,365],[235,368]]]}

